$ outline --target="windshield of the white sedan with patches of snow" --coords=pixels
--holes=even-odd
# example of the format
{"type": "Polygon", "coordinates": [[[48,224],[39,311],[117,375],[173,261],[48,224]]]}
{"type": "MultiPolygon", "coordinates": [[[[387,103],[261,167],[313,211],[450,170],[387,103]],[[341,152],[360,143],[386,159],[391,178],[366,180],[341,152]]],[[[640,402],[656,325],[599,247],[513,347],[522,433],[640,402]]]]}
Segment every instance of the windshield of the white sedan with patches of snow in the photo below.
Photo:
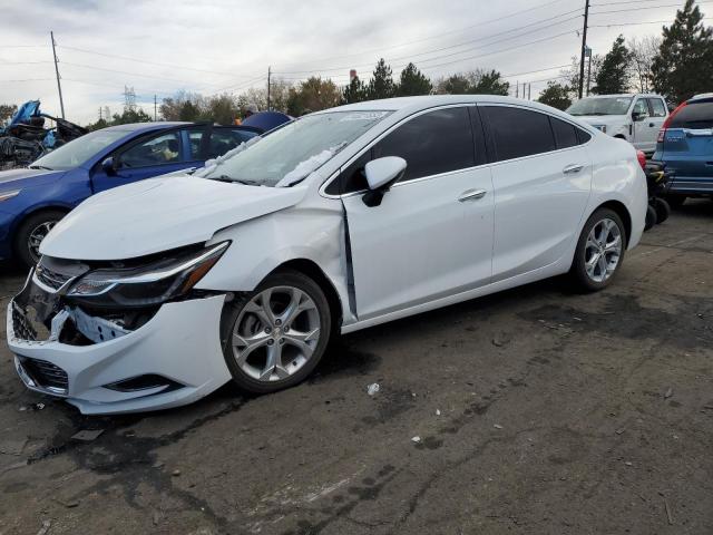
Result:
{"type": "Polygon", "coordinates": [[[227,157],[207,162],[198,176],[256,186],[302,181],[385,117],[388,111],[330,111],[287,123],[227,157]]]}

